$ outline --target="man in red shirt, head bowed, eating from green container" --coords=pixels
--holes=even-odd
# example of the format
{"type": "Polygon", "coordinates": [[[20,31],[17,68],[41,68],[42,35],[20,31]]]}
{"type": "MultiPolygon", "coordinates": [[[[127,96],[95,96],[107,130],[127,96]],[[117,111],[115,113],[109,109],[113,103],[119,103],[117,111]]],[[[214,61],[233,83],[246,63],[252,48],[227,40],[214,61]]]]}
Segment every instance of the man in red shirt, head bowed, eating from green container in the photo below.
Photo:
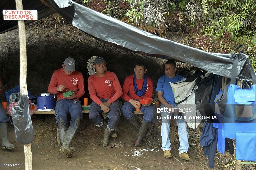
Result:
{"type": "Polygon", "coordinates": [[[59,135],[62,146],[60,152],[71,157],[74,147],[70,147],[71,141],[83,119],[81,110],[81,98],[84,91],[84,79],[81,72],[76,71],[74,58],[67,58],[62,64],[63,68],[56,70],[51,78],[48,91],[57,94],[55,116],[59,127],[59,135]],[[74,94],[63,97],[62,93],[73,90],[74,94]],[[68,113],[71,115],[70,126],[68,128],[68,113]]]}

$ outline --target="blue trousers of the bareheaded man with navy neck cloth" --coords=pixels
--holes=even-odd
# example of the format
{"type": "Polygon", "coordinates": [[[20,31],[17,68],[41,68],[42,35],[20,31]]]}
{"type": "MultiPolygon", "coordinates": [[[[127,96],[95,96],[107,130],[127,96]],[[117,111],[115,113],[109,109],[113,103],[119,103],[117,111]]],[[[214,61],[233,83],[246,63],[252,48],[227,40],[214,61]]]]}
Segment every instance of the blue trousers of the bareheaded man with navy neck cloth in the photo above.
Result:
{"type": "MultiPolygon", "coordinates": [[[[133,112],[136,110],[136,108],[130,102],[125,102],[122,105],[121,110],[124,114],[124,118],[130,119],[134,116],[133,112]]],[[[152,104],[149,106],[141,105],[141,112],[144,113],[143,120],[145,122],[152,122],[155,115],[155,109],[152,104]]]]}

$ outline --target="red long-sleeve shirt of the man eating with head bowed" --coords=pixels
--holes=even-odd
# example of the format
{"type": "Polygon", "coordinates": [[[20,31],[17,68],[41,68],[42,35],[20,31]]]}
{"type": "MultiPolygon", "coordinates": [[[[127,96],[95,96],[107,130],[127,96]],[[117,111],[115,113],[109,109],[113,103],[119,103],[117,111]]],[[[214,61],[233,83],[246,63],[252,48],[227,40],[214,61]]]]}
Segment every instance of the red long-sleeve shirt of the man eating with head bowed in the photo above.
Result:
{"type": "Polygon", "coordinates": [[[85,93],[83,75],[79,71],[74,71],[71,75],[67,75],[63,68],[54,71],[48,86],[48,92],[57,94],[57,100],[64,99],[62,93],[67,92],[66,90],[57,92],[60,85],[65,86],[67,91],[73,90],[77,96],[76,100],[79,100],[85,93]]]}

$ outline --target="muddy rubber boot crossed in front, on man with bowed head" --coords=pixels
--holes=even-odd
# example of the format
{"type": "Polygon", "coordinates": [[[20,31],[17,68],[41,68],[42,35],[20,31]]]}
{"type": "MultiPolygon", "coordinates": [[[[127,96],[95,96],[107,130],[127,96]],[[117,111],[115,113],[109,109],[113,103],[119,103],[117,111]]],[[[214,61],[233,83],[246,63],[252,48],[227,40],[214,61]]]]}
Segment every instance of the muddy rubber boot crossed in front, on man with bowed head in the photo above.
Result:
{"type": "Polygon", "coordinates": [[[65,133],[63,144],[60,147],[60,152],[66,154],[67,158],[71,157],[75,151],[75,148],[70,147],[70,144],[73,137],[75,136],[76,131],[77,131],[77,126],[70,126],[67,132],[65,133]]]}

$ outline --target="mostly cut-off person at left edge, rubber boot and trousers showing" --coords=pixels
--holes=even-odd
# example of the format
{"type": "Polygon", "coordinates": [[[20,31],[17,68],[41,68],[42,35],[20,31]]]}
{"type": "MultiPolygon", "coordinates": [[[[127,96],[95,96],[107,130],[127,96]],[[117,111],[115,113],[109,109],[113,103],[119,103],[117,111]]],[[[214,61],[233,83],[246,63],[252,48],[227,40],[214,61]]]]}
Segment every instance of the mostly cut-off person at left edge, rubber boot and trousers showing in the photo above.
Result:
{"type": "MultiPolygon", "coordinates": [[[[4,91],[4,87],[2,85],[2,81],[0,78],[0,93],[4,91]]],[[[0,132],[2,139],[2,149],[13,149],[16,146],[9,142],[8,140],[8,130],[7,130],[7,122],[9,121],[9,117],[6,116],[6,111],[0,103],[0,132]]]]}

